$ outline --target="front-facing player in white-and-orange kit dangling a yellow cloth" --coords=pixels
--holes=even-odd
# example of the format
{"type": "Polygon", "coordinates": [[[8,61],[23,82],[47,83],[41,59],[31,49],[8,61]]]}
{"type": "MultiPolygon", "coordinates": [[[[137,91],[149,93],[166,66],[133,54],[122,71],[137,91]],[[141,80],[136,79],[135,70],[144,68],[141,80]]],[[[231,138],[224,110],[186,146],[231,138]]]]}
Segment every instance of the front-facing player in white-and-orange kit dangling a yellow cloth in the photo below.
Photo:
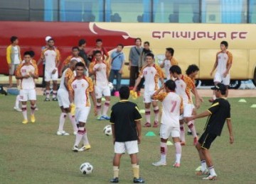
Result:
{"type": "Polygon", "coordinates": [[[154,54],[149,53],[146,55],[146,66],[142,68],[140,71],[139,77],[136,80],[133,91],[137,91],[137,86],[140,81],[144,77],[144,103],[145,103],[145,115],[146,115],[146,123],[144,127],[151,127],[150,122],[150,105],[152,103],[154,109],[154,125],[153,127],[158,127],[159,125],[159,106],[157,105],[157,100],[152,100],[151,96],[154,92],[159,88],[159,79],[161,81],[161,85],[164,84],[164,74],[161,71],[161,68],[154,64],[154,54]]]}

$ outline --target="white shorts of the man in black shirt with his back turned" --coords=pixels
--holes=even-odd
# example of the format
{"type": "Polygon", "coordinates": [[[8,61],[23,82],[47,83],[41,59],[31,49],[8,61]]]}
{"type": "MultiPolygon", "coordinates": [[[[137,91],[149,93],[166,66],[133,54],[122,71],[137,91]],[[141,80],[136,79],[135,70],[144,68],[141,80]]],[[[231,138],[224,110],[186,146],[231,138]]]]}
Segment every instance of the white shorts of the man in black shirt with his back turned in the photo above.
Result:
{"type": "Polygon", "coordinates": [[[114,142],[114,153],[115,154],[124,154],[127,151],[128,154],[137,154],[139,153],[138,141],[130,142],[114,142]]]}

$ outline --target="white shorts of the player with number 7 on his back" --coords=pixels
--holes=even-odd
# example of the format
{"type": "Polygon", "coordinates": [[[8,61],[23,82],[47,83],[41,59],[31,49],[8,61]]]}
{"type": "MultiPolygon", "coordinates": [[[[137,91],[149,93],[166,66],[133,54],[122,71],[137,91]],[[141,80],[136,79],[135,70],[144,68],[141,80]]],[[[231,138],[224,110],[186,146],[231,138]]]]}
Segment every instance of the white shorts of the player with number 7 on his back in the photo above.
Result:
{"type": "Polygon", "coordinates": [[[168,139],[169,137],[180,137],[180,127],[174,127],[173,125],[161,124],[160,137],[162,139],[168,139]]]}

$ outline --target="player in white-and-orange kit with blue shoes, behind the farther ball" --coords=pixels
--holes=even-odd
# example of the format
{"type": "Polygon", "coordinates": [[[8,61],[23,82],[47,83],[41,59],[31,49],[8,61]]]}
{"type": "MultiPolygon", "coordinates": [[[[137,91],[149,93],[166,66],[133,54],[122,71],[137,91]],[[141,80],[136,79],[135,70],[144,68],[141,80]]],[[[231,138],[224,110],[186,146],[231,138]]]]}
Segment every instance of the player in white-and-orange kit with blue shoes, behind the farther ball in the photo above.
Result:
{"type": "Polygon", "coordinates": [[[108,86],[109,66],[101,59],[102,52],[95,51],[95,62],[90,63],[90,74],[95,76],[95,95],[97,99],[97,120],[110,120],[107,110],[110,107],[110,87],[108,86]],[[102,95],[105,96],[105,104],[102,110],[102,95]],[[102,112],[102,113],[101,113],[102,112]]]}

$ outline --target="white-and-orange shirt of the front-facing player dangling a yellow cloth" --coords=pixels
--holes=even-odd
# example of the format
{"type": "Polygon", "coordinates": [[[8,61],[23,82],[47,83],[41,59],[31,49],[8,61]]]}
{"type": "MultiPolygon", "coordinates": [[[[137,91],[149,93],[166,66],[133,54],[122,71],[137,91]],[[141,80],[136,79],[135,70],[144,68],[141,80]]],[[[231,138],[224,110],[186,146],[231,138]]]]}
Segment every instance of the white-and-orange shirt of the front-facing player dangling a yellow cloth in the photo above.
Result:
{"type": "Polygon", "coordinates": [[[144,77],[144,89],[145,91],[155,91],[159,88],[159,78],[164,78],[163,71],[159,66],[153,64],[153,66],[145,66],[141,69],[139,76],[144,77]]]}

